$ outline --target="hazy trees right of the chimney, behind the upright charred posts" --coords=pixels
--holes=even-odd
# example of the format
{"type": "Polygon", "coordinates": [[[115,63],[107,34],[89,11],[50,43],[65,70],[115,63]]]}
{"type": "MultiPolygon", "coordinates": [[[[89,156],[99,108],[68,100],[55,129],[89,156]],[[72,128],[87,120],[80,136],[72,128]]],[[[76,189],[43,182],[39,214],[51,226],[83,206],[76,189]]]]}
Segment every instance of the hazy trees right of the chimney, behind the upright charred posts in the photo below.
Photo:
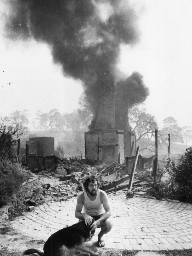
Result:
{"type": "Polygon", "coordinates": [[[168,145],[168,134],[170,134],[171,145],[185,143],[188,145],[192,140],[192,128],[190,126],[179,127],[177,120],[169,116],[163,120],[163,127],[159,129],[155,117],[146,112],[145,108],[133,107],[129,112],[129,124],[136,135],[136,143],[140,150],[155,152],[154,140],[155,130],[158,130],[159,146],[168,145]]]}

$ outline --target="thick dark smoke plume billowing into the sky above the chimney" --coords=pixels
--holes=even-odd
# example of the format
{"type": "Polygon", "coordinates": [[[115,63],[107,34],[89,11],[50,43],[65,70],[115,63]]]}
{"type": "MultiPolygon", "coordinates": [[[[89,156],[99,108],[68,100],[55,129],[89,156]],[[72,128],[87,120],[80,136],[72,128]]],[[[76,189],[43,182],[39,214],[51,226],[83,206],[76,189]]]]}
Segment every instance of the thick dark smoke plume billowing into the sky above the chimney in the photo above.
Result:
{"type": "MultiPolygon", "coordinates": [[[[128,0],[8,0],[8,4],[7,35],[49,44],[64,76],[84,83],[85,99],[95,116],[102,96],[115,92],[108,74],[115,74],[121,44],[139,41],[137,15],[128,0]]],[[[144,101],[147,89],[134,73],[118,83],[115,95],[132,105],[144,101]]]]}

